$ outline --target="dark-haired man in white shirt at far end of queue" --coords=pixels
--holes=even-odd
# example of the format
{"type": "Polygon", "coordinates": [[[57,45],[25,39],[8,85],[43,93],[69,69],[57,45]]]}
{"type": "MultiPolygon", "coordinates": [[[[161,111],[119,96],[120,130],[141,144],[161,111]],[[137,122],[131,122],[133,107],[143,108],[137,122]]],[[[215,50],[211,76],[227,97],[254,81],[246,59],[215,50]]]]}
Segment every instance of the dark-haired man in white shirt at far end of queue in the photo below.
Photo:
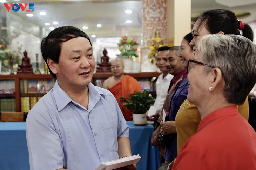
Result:
{"type": "MultiPolygon", "coordinates": [[[[159,118],[159,113],[163,108],[164,100],[166,99],[166,94],[168,93],[168,88],[171,82],[171,79],[174,77],[169,74],[168,69],[166,68],[164,57],[166,57],[166,53],[169,47],[163,46],[158,49],[157,57],[156,57],[156,65],[162,72],[157,78],[156,81],[156,100],[153,107],[156,107],[156,113],[148,117],[151,121],[156,121],[159,118]]],[[[147,111],[148,113],[148,111],[147,111]]],[[[156,125],[157,126],[157,125],[156,125]]]]}

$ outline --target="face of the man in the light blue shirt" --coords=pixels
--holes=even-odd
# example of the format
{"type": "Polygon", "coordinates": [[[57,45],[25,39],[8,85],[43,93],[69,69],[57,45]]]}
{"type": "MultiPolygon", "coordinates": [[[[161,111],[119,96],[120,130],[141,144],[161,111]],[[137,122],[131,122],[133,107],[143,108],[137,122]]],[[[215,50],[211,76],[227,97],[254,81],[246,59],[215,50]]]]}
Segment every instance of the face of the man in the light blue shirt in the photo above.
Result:
{"type": "Polygon", "coordinates": [[[95,59],[88,39],[77,37],[62,43],[59,63],[51,69],[62,89],[78,90],[92,79],[95,59]]]}

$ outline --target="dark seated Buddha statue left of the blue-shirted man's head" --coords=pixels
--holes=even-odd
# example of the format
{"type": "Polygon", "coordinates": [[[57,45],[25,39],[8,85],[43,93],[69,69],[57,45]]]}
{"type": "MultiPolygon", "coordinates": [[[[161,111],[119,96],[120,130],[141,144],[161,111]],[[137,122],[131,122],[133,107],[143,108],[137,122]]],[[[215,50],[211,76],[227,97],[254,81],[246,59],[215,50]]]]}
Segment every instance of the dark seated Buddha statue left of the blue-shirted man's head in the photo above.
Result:
{"type": "Polygon", "coordinates": [[[22,63],[18,64],[20,68],[17,69],[17,74],[33,74],[32,64],[30,64],[30,58],[27,56],[28,53],[24,51],[24,57],[22,58],[22,63]]]}

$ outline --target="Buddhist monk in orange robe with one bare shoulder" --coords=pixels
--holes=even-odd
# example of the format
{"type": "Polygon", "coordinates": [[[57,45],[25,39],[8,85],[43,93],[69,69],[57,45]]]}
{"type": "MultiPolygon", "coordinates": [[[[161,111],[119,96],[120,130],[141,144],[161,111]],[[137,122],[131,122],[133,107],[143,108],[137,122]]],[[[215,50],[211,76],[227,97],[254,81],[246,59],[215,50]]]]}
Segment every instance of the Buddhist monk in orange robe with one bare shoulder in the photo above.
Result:
{"type": "Polygon", "coordinates": [[[124,64],[121,59],[116,59],[111,63],[111,72],[113,76],[106,79],[103,83],[103,88],[108,89],[116,98],[117,103],[123,113],[126,121],[133,120],[131,110],[123,109],[123,102],[119,103],[120,96],[128,98],[130,94],[141,91],[140,84],[136,79],[129,75],[123,74],[124,64]]]}

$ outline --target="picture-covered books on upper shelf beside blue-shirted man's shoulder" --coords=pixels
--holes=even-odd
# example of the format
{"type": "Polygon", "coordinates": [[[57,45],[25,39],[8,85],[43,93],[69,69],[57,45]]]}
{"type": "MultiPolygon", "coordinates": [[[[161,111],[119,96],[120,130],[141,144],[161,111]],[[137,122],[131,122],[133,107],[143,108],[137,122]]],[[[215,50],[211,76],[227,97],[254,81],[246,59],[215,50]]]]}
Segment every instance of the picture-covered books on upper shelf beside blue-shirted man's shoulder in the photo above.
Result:
{"type": "Polygon", "coordinates": [[[55,79],[21,79],[20,80],[20,93],[42,93],[45,94],[53,88],[55,79]]]}

